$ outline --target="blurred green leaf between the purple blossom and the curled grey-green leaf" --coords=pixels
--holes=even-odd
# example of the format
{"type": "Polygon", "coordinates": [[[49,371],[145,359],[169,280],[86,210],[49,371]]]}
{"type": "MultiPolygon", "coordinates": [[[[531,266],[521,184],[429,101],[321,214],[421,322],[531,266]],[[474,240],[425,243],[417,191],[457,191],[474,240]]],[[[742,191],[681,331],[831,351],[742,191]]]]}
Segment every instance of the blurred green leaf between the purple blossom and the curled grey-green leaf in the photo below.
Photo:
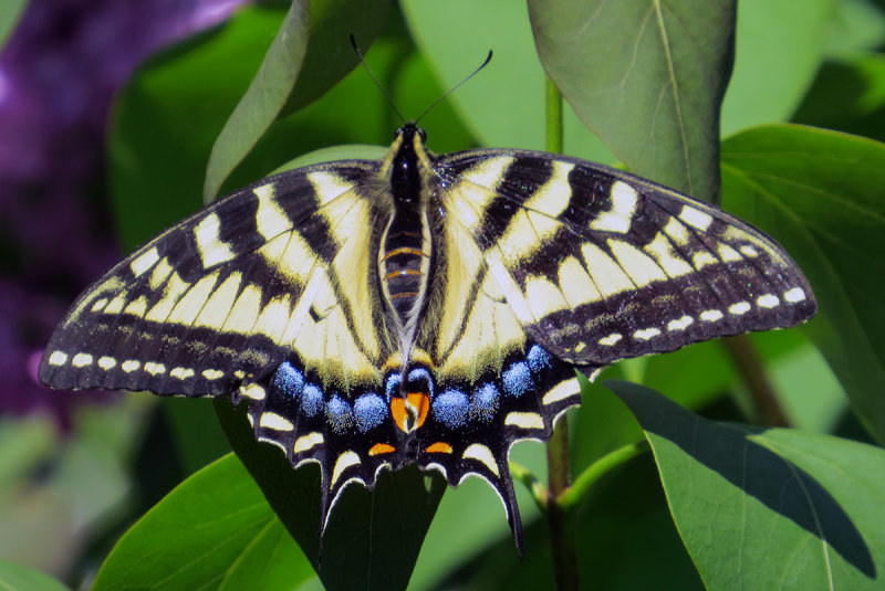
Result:
{"type": "Polygon", "coordinates": [[[212,143],[282,17],[281,10],[244,7],[222,27],[154,56],[117,95],[107,150],[125,250],[201,204],[212,143]]]}

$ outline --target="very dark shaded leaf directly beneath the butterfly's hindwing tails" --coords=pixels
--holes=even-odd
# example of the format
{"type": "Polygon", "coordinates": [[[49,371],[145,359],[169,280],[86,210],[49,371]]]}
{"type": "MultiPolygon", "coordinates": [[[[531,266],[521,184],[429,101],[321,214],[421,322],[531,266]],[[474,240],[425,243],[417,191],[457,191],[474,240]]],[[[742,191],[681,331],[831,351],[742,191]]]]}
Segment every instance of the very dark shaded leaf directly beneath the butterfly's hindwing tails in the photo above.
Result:
{"type": "Polygon", "coordinates": [[[220,399],[215,407],[231,446],[317,568],[326,589],[406,588],[446,489],[441,476],[424,474],[413,465],[382,471],[373,492],[358,485],[346,487],[330,516],[321,550],[316,464],[292,469],[278,447],[256,440],[244,409],[233,409],[220,399]]]}

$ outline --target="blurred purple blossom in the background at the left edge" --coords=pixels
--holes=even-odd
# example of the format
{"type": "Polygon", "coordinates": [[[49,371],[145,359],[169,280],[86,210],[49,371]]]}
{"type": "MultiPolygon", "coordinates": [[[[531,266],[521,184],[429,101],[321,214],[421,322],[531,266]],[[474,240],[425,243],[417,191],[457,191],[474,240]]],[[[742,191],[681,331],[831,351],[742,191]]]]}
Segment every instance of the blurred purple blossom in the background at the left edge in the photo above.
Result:
{"type": "Polygon", "coordinates": [[[31,0],[0,49],[0,413],[72,401],[35,377],[76,294],[119,256],[104,208],[114,93],[165,44],[246,0],[31,0]]]}

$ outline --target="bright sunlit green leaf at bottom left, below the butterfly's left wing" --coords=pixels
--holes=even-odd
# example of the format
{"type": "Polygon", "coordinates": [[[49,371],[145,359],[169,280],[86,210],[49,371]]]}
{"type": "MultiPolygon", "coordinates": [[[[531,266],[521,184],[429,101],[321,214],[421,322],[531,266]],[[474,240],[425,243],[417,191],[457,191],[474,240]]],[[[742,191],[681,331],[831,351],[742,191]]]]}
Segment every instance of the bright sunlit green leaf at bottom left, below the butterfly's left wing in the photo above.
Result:
{"type": "Polygon", "coordinates": [[[236,456],[186,479],[114,546],[95,580],[103,589],[291,588],[313,578],[304,555],[236,456]],[[270,562],[269,556],[284,558],[270,562]]]}

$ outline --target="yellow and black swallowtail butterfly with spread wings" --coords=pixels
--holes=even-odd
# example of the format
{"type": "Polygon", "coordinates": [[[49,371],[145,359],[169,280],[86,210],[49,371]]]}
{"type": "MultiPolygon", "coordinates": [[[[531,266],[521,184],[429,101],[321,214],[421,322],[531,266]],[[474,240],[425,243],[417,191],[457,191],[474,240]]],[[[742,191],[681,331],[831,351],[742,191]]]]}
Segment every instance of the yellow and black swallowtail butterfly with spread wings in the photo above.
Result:
{"type": "Polygon", "coordinates": [[[789,255],[719,209],[563,156],[437,156],[406,124],[383,161],[259,180],[136,251],[40,379],[244,401],[259,440],[320,464],[323,524],[383,467],[479,475],[520,545],[509,450],[580,403],[575,369],[814,312],[789,255]]]}

